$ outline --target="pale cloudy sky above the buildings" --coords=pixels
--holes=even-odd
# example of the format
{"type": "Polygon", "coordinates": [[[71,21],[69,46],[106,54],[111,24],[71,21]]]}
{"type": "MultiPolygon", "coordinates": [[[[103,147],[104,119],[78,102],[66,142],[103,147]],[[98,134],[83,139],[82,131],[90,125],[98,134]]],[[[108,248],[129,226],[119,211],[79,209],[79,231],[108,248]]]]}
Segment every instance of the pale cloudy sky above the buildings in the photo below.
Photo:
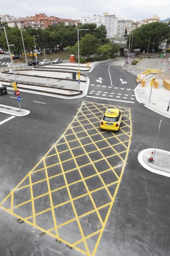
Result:
{"type": "Polygon", "coordinates": [[[83,16],[115,14],[118,18],[134,21],[170,17],[170,0],[8,0],[0,6],[0,15],[19,17],[45,13],[47,16],[80,19],[83,16]]]}

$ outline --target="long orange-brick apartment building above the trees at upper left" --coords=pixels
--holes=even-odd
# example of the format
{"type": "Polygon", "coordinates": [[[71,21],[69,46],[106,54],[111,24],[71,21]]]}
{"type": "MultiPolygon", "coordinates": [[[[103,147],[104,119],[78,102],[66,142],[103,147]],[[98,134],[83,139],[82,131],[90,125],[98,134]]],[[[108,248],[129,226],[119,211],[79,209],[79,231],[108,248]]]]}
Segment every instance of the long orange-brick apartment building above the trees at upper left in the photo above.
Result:
{"type": "Polygon", "coordinates": [[[20,19],[11,20],[8,22],[9,27],[18,27],[23,29],[24,27],[32,27],[34,29],[46,29],[48,26],[56,26],[60,23],[65,25],[81,25],[80,20],[71,20],[71,19],[60,19],[55,16],[48,17],[46,14],[35,14],[35,16],[25,17],[20,19]]]}

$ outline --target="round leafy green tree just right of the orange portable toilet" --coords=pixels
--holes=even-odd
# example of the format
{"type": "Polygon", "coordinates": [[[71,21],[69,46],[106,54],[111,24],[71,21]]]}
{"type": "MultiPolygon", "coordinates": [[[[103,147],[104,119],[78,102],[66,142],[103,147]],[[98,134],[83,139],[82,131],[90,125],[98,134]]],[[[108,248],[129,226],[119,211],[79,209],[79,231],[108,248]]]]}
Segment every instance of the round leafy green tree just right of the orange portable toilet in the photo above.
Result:
{"type": "Polygon", "coordinates": [[[86,34],[80,40],[80,53],[90,59],[90,54],[97,52],[99,45],[100,41],[95,37],[95,35],[86,34]]]}

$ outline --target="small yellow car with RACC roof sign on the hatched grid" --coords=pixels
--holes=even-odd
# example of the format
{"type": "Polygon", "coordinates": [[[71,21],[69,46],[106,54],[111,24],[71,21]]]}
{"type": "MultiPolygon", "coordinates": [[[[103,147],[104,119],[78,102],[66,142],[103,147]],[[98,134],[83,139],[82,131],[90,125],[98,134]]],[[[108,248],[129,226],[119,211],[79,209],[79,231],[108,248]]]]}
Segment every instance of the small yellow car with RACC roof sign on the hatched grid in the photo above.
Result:
{"type": "Polygon", "coordinates": [[[100,129],[119,131],[122,116],[122,110],[106,109],[100,122],[100,129]]]}

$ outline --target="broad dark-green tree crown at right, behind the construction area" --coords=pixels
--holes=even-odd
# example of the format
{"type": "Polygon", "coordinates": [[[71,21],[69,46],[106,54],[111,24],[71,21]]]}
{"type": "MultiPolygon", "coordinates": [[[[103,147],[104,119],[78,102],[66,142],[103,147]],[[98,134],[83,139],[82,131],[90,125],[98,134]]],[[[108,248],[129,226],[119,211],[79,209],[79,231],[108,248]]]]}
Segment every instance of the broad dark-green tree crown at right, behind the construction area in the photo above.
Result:
{"type": "MultiPolygon", "coordinates": [[[[133,47],[136,49],[140,48],[141,51],[143,51],[147,50],[149,43],[149,51],[151,51],[153,48],[155,49],[155,51],[157,51],[158,45],[165,41],[165,39],[167,38],[169,38],[169,25],[167,23],[152,22],[147,25],[142,25],[142,27],[133,30],[133,47]]],[[[130,35],[127,39],[128,48],[129,39],[130,35]]]]}

